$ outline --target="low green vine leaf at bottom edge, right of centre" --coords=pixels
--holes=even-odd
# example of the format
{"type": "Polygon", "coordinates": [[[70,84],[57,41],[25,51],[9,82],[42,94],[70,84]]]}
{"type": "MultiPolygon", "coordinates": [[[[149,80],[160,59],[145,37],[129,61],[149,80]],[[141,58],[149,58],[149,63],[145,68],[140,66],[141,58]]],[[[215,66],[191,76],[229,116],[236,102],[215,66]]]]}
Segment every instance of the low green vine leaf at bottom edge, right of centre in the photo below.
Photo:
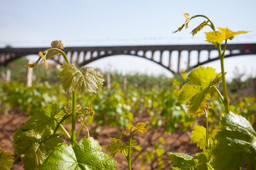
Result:
{"type": "Polygon", "coordinates": [[[174,162],[171,164],[173,170],[208,170],[211,154],[205,151],[192,157],[185,153],[170,153],[169,158],[174,162]]]}

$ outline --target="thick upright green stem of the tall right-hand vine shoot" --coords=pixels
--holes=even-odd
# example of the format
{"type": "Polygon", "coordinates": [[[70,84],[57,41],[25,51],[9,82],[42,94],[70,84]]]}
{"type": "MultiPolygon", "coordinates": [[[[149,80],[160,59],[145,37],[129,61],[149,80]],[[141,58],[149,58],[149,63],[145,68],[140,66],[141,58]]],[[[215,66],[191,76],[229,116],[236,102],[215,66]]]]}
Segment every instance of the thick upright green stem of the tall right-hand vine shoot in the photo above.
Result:
{"type": "MultiPolygon", "coordinates": [[[[225,106],[225,112],[229,114],[229,96],[227,91],[227,84],[226,84],[226,78],[225,78],[225,70],[224,70],[224,54],[227,47],[227,40],[225,41],[224,45],[224,51],[219,53],[219,59],[220,59],[220,65],[221,65],[221,77],[222,77],[222,88],[223,88],[223,97],[224,97],[224,106],[225,106]]],[[[218,50],[220,48],[220,45],[218,46],[218,50]]]]}

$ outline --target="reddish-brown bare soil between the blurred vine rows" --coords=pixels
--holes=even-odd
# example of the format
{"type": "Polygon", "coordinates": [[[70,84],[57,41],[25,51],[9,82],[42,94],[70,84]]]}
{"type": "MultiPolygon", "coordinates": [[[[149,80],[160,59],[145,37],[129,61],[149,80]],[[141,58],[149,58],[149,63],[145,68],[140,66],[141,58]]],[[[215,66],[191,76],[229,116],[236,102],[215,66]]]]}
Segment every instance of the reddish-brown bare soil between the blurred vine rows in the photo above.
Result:
{"type": "MultiPolygon", "coordinates": [[[[0,144],[4,143],[4,150],[11,151],[15,153],[15,148],[12,144],[12,137],[14,136],[15,131],[19,126],[25,123],[29,117],[27,117],[24,113],[20,112],[18,109],[10,110],[8,115],[0,115],[0,144]]],[[[134,123],[137,122],[149,122],[147,117],[145,115],[141,115],[135,118],[134,123]]],[[[66,129],[71,129],[71,125],[68,124],[65,126],[66,129]]],[[[78,126],[79,128],[79,122],[78,126]]],[[[88,126],[91,130],[93,127],[90,125],[88,126]]],[[[77,129],[78,130],[78,129],[77,129]]],[[[168,158],[169,152],[174,153],[187,153],[192,156],[195,155],[195,153],[199,152],[200,150],[196,147],[196,144],[190,144],[190,131],[182,132],[181,130],[177,129],[176,132],[172,133],[171,135],[168,135],[164,132],[164,129],[162,127],[159,127],[157,129],[149,129],[148,132],[142,134],[142,133],[136,133],[134,135],[134,139],[138,142],[138,144],[141,146],[141,151],[134,151],[133,153],[133,160],[132,161],[132,169],[133,170],[141,170],[141,166],[144,166],[145,169],[148,170],[158,170],[158,161],[157,157],[155,155],[155,158],[153,158],[150,161],[145,161],[145,163],[142,163],[142,160],[146,158],[145,151],[153,151],[154,143],[159,143],[159,138],[164,137],[165,138],[165,144],[163,144],[163,148],[165,149],[164,153],[164,166],[161,168],[161,170],[171,170],[171,167],[169,166],[170,159],[168,158]]],[[[122,134],[125,135],[126,130],[124,129],[122,131],[122,134]]],[[[98,140],[102,151],[106,151],[103,145],[111,144],[110,137],[120,138],[118,134],[120,133],[119,127],[109,127],[104,126],[101,127],[101,133],[100,134],[90,134],[91,137],[98,140]]],[[[80,133],[80,136],[78,140],[82,138],[82,136],[87,136],[86,130],[82,130],[80,133]]],[[[62,138],[66,143],[68,143],[68,140],[66,138],[62,138]]],[[[128,137],[124,137],[123,141],[128,141],[128,137]]],[[[114,158],[118,163],[116,166],[119,170],[127,170],[127,161],[125,157],[117,153],[114,158]]],[[[15,154],[13,167],[11,170],[23,170],[23,163],[20,157],[18,157],[17,154],[15,154]]]]}

